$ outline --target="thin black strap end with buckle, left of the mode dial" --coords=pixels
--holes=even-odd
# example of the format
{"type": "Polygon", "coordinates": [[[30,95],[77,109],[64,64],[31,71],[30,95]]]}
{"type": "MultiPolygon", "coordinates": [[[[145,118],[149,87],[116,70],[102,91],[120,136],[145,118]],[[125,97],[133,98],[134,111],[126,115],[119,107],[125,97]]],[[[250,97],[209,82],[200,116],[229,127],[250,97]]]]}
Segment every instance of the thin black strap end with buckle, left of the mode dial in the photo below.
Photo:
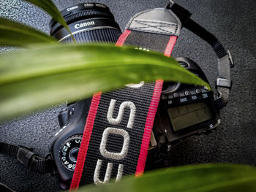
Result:
{"type": "Polygon", "coordinates": [[[42,158],[32,152],[32,149],[20,145],[11,145],[0,142],[0,153],[5,153],[13,158],[17,158],[32,172],[39,174],[54,173],[54,162],[50,158],[42,158]]]}

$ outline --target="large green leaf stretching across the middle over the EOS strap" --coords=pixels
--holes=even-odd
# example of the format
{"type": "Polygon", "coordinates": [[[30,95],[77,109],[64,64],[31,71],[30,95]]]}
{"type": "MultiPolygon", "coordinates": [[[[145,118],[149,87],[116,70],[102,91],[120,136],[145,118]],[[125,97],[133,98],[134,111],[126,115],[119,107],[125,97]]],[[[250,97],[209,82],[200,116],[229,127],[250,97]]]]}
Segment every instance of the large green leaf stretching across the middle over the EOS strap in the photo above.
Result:
{"type": "Polygon", "coordinates": [[[208,84],[160,53],[114,45],[52,45],[0,55],[0,119],[130,82],[208,84]]]}

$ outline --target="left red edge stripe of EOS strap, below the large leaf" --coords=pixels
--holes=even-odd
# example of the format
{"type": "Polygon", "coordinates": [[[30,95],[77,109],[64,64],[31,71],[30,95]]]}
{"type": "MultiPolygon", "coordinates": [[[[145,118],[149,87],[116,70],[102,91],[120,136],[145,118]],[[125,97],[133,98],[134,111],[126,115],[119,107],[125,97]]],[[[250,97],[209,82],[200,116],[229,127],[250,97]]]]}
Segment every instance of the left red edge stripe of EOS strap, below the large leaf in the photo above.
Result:
{"type": "Polygon", "coordinates": [[[94,127],[94,120],[99,107],[100,97],[101,97],[101,92],[94,93],[94,96],[91,99],[91,107],[88,113],[88,117],[86,119],[86,125],[83,131],[83,138],[80,145],[80,150],[78,152],[78,161],[77,161],[77,164],[75,165],[75,172],[72,177],[72,182],[71,182],[69,191],[77,190],[79,187],[80,179],[83,173],[83,166],[86,161],[86,153],[87,153],[89,142],[91,139],[91,131],[94,127]]]}

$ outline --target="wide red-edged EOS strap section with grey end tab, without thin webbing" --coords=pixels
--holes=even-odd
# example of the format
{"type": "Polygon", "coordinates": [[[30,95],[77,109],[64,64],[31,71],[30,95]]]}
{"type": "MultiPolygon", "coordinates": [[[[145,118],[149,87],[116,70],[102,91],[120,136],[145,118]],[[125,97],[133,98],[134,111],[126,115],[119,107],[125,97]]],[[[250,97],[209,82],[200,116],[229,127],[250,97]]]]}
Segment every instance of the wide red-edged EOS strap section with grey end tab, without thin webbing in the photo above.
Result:
{"type": "MultiPolygon", "coordinates": [[[[150,9],[129,21],[116,46],[134,45],[138,51],[156,50],[170,56],[180,30],[181,22],[171,10],[150,9]]],[[[162,83],[140,82],[94,94],[71,190],[143,174],[162,83]]]]}

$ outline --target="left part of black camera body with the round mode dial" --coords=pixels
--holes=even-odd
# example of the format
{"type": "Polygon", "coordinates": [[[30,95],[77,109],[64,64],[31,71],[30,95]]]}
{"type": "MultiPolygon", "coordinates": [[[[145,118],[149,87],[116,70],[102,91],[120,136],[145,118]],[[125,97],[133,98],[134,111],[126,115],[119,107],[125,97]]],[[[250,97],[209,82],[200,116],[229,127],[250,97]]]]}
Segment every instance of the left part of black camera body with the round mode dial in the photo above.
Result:
{"type": "Polygon", "coordinates": [[[61,129],[55,134],[50,149],[59,173],[61,188],[69,188],[72,180],[90,104],[91,99],[78,101],[59,112],[61,129]]]}

